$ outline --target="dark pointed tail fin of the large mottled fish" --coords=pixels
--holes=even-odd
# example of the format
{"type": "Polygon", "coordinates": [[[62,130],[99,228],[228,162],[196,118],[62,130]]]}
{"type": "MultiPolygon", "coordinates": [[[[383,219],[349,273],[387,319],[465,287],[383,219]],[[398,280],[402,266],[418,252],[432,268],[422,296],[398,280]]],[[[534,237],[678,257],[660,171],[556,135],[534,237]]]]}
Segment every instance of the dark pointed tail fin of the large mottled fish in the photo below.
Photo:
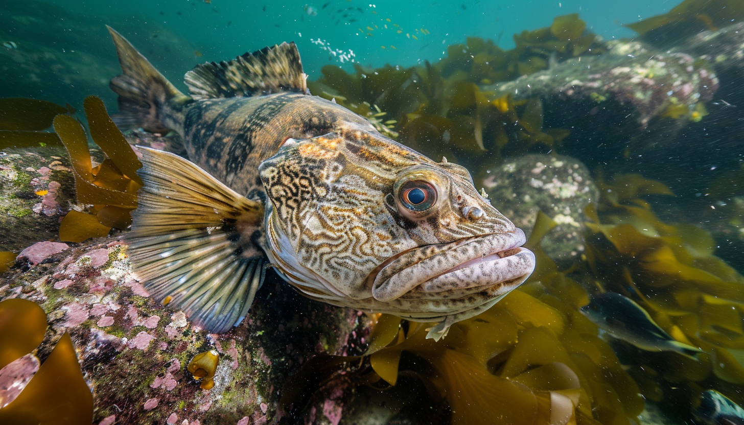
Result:
{"type": "Polygon", "coordinates": [[[116,45],[122,74],[109,86],[119,95],[115,123],[124,129],[142,127],[149,132],[182,132],[178,105],[191,99],[179,92],[137,49],[113,28],[109,33],[116,45]]]}

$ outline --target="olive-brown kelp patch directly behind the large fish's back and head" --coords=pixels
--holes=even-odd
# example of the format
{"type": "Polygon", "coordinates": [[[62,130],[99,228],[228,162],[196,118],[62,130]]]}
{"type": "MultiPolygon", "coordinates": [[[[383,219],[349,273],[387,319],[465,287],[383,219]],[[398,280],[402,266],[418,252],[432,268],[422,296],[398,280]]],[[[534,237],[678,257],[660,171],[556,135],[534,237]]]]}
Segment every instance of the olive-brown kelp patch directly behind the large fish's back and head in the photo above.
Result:
{"type": "Polygon", "coordinates": [[[493,99],[475,83],[444,79],[437,65],[373,70],[356,65],[355,71],[326,66],[323,77],[309,83],[310,90],[367,117],[384,134],[400,133],[400,141],[434,158],[480,158],[484,153],[498,158],[536,146],[547,152],[568,135],[567,130],[543,129],[538,98],[493,99]]]}

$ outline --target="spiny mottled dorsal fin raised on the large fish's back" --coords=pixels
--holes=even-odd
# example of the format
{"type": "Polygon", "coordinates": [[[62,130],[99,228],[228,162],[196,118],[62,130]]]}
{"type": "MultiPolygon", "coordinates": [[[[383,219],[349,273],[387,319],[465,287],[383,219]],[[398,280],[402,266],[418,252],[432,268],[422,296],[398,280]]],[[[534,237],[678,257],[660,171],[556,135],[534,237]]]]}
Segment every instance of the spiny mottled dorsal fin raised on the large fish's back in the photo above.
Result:
{"type": "Polygon", "coordinates": [[[186,85],[196,100],[240,98],[271,93],[310,95],[307,74],[294,42],[283,42],[246,53],[229,62],[208,62],[186,73],[186,85]]]}

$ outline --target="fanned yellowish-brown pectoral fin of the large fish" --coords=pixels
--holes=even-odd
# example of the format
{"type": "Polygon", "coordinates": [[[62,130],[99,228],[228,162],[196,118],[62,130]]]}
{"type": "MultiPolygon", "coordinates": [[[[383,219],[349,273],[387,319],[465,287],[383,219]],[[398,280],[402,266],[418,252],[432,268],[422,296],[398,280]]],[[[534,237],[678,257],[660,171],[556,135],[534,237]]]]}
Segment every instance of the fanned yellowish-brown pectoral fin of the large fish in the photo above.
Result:
{"type": "Polygon", "coordinates": [[[266,256],[251,237],[263,204],[186,159],[139,149],[144,186],[124,236],[135,273],[153,298],[225,332],[246,316],[263,281],[266,256]]]}

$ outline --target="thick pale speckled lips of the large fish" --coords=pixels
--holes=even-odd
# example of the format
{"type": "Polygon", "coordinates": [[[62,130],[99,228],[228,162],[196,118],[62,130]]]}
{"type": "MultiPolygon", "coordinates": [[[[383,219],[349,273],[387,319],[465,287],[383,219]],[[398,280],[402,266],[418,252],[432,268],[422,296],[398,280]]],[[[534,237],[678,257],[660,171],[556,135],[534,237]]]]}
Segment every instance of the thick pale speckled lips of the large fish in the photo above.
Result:
{"type": "MultiPolygon", "coordinates": [[[[470,279],[458,284],[461,292],[493,287],[500,282],[514,282],[509,290],[521,284],[534,269],[534,255],[521,246],[525,243],[521,229],[512,232],[484,234],[448,243],[418,246],[395,255],[380,264],[367,277],[373,297],[379,301],[392,301],[403,295],[421,297],[452,290],[451,282],[470,279]],[[516,264],[505,263],[506,258],[519,257],[516,264]],[[487,276],[489,269],[498,271],[487,276]],[[498,269],[498,270],[496,270],[498,269]],[[458,274],[455,272],[461,271],[458,274]],[[517,282],[518,281],[518,282],[517,282]],[[469,285],[469,286],[468,286],[469,285]],[[467,290],[470,288],[471,290],[467,290]]],[[[451,292],[451,291],[450,291],[451,292]]],[[[429,297],[431,298],[431,297],[429,297]]]]}

